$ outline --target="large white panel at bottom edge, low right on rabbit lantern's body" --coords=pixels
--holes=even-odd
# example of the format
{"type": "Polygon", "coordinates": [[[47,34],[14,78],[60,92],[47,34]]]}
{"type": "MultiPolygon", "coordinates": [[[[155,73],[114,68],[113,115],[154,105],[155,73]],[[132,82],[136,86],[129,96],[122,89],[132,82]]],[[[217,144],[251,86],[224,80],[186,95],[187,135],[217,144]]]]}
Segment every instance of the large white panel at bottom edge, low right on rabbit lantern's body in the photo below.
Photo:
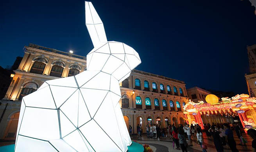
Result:
{"type": "MultiPolygon", "coordinates": [[[[106,125],[110,128],[112,127],[110,124],[106,125]]],[[[84,134],[85,138],[90,143],[90,145],[92,145],[95,152],[122,152],[122,150],[100,128],[95,120],[91,120],[90,122],[86,123],[80,127],[79,130],[82,134],[84,134]],[[95,133],[100,134],[100,138],[96,138],[95,133]],[[99,143],[100,146],[98,146],[99,143]]]]}

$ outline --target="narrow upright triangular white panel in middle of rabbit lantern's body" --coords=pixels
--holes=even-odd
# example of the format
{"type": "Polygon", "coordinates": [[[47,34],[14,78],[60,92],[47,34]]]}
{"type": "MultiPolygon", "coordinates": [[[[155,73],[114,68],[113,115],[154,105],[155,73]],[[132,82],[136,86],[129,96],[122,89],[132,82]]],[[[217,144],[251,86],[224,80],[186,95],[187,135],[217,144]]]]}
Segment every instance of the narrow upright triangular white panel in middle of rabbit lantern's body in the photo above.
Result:
{"type": "Polygon", "coordinates": [[[78,127],[91,120],[90,113],[84,102],[81,92],[79,92],[79,103],[78,103],[78,127]]]}

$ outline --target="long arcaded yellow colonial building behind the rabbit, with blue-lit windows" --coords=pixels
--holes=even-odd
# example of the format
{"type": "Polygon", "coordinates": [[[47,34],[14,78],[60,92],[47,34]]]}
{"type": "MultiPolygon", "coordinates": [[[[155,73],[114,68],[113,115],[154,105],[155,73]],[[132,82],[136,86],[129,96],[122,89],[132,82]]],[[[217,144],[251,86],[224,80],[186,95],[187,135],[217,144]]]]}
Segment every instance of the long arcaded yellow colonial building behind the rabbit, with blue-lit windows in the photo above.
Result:
{"type": "MultiPolygon", "coordinates": [[[[0,101],[0,139],[14,140],[21,99],[36,91],[44,81],[73,76],[86,70],[86,57],[56,49],[29,44],[24,57],[0,101]]],[[[148,72],[134,70],[120,83],[122,107],[127,127],[141,124],[183,124],[183,105],[188,102],[185,83],[148,72]]],[[[106,118],[107,119],[107,118],[106,118]]]]}

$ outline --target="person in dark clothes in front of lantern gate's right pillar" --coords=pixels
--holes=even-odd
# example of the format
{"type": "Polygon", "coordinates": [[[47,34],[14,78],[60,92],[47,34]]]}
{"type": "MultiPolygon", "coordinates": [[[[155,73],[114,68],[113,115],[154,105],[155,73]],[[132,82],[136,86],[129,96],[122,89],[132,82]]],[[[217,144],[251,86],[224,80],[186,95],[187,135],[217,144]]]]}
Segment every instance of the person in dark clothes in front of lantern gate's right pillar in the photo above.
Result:
{"type": "Polygon", "coordinates": [[[233,136],[233,131],[230,129],[230,125],[224,124],[224,129],[225,129],[225,134],[226,134],[226,136],[225,136],[226,142],[227,142],[229,148],[231,149],[232,152],[238,152],[238,150],[236,148],[236,141],[233,136]]]}

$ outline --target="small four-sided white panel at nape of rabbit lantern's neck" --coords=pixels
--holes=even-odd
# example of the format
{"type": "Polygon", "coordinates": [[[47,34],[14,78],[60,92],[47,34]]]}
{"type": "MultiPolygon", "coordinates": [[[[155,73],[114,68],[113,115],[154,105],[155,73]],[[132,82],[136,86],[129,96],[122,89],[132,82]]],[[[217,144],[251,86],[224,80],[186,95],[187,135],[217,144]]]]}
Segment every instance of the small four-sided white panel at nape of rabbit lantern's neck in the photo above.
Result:
{"type": "Polygon", "coordinates": [[[80,74],[75,75],[75,79],[77,80],[78,86],[81,87],[86,82],[91,80],[94,76],[96,76],[100,71],[84,71],[80,74]]]}

